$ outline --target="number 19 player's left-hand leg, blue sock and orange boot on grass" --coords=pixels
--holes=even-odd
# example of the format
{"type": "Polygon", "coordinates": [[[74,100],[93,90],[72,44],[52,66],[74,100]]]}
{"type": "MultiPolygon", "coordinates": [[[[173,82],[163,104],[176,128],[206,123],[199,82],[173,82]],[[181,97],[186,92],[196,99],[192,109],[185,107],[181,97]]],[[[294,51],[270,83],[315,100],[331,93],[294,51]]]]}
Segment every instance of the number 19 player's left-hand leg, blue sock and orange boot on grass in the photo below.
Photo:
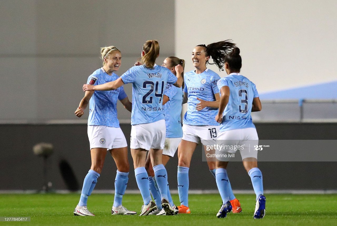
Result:
{"type": "MultiPolygon", "coordinates": [[[[184,139],[184,138],[183,138],[184,139]]],[[[178,193],[180,206],[179,213],[190,213],[188,208],[188,171],[192,155],[197,146],[197,142],[181,140],[178,146],[178,193]]]]}

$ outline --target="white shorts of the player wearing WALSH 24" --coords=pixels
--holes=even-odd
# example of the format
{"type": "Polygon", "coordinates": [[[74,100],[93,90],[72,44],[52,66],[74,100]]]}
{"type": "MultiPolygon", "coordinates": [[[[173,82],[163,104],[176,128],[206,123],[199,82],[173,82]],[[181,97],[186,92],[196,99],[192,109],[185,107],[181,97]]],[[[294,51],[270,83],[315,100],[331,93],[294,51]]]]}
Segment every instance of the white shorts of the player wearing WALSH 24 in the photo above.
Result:
{"type": "Polygon", "coordinates": [[[130,148],[145,149],[150,148],[163,149],[166,136],[165,120],[159,120],[152,123],[132,125],[130,148]]]}

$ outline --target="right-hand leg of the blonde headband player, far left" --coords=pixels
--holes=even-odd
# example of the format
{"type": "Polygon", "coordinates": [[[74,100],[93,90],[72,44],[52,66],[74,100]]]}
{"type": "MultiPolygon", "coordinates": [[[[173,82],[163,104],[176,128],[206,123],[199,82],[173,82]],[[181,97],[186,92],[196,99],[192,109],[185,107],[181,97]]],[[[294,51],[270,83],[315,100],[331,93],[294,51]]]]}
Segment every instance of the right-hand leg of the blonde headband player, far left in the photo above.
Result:
{"type": "MultiPolygon", "coordinates": [[[[124,136],[124,135],[123,135],[124,136]]],[[[125,138],[124,138],[125,139],[125,138]]],[[[126,143],[126,142],[125,142],[126,143]]],[[[126,190],[129,180],[129,161],[127,147],[114,148],[110,150],[111,156],[114,158],[117,166],[117,174],[115,178],[115,198],[111,209],[112,215],[135,215],[134,211],[127,210],[122,205],[122,198],[126,190]]]]}

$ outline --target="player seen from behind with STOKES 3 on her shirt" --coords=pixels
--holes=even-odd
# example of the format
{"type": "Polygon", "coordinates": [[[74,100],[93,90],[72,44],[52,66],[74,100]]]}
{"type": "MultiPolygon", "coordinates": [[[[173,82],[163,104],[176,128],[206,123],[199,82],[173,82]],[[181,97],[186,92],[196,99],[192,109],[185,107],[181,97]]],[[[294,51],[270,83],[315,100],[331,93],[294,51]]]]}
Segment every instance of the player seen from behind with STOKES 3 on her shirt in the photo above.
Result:
{"type": "MultiPolygon", "coordinates": [[[[262,106],[255,84],[240,74],[242,60],[239,53],[240,49],[235,47],[226,55],[224,60],[228,76],[217,83],[221,93],[219,112],[215,117],[221,123],[217,144],[244,147],[240,149],[240,154],[256,194],[254,218],[258,219],[265,216],[266,197],[263,195],[262,173],[257,168],[257,151],[254,150],[254,145],[258,144],[258,137],[250,113],[261,111],[262,106]]],[[[218,160],[215,174],[222,206],[216,216],[223,218],[232,209],[227,189],[228,158],[218,160]]]]}

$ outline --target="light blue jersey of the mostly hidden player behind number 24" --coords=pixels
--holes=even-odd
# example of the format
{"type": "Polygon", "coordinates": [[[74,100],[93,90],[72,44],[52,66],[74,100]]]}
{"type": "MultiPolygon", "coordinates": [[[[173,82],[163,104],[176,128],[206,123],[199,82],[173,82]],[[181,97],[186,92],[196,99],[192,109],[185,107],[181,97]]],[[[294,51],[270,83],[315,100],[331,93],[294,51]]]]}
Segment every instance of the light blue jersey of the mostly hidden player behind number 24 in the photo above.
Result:
{"type": "Polygon", "coordinates": [[[170,101],[163,105],[166,124],[166,138],[183,137],[180,117],[183,104],[183,89],[167,84],[164,95],[170,98],[170,101]]]}

